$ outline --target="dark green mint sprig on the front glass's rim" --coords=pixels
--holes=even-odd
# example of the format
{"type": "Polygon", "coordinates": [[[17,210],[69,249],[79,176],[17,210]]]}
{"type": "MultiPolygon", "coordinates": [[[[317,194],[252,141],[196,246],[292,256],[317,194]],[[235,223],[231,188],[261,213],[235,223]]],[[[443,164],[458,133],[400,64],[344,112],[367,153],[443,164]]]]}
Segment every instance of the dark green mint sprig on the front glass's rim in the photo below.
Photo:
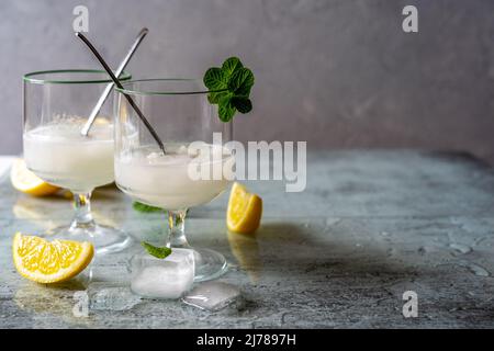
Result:
{"type": "Polygon", "coordinates": [[[235,113],[248,113],[252,110],[249,99],[254,86],[254,73],[240,63],[238,57],[231,57],[223,66],[207,69],[203,78],[210,90],[207,100],[217,104],[218,116],[223,122],[232,121],[235,113]]]}

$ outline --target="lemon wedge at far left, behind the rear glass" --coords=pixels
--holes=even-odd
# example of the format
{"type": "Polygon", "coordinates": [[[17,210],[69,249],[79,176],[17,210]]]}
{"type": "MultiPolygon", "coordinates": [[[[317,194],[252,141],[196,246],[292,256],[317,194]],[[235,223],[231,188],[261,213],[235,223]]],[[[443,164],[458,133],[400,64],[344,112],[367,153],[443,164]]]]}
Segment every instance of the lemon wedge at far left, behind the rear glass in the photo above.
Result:
{"type": "Polygon", "coordinates": [[[58,191],[57,186],[48,184],[30,171],[24,160],[20,158],[12,163],[10,181],[16,190],[35,196],[50,195],[58,191]]]}

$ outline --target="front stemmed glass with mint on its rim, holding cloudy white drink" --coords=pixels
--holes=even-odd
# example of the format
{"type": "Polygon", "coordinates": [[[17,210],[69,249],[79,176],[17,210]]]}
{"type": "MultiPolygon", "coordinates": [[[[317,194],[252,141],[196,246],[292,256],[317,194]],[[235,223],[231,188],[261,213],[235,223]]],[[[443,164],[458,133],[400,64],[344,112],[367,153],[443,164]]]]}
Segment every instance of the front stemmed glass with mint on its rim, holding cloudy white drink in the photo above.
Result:
{"type": "Polygon", "coordinates": [[[222,143],[213,143],[213,134],[221,133],[222,141],[229,140],[232,124],[213,113],[200,80],[134,80],[115,90],[116,185],[133,200],[167,211],[164,244],[194,250],[194,281],[220,276],[226,271],[225,258],[211,249],[191,248],[184,225],[188,208],[211,202],[231,184],[234,157],[222,143]],[[165,152],[123,93],[154,126],[165,152]],[[193,145],[199,147],[194,150],[193,145]],[[211,177],[191,176],[192,166],[200,166],[200,172],[211,177]]]}

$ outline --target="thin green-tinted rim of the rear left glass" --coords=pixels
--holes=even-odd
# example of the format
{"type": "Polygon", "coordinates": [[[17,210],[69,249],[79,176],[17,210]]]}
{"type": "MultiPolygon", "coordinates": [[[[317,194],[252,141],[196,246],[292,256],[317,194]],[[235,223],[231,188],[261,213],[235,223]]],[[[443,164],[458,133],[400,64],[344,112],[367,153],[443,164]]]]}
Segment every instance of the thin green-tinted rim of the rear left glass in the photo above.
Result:
{"type": "MultiPolygon", "coordinates": [[[[35,78],[41,75],[50,73],[104,73],[108,72],[102,69],[53,69],[53,70],[37,70],[33,72],[25,73],[22,76],[22,80],[25,82],[34,84],[91,84],[91,83],[113,83],[113,80],[109,77],[108,79],[40,79],[35,78]]],[[[123,71],[120,75],[119,80],[127,81],[132,79],[132,75],[127,71],[123,71]]]]}

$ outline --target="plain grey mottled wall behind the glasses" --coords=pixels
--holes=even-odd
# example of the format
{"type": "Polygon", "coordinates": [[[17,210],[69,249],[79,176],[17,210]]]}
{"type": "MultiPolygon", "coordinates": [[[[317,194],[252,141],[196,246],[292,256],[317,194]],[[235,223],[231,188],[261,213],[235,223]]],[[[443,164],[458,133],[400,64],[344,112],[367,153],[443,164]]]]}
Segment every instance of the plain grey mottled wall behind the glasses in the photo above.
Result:
{"type": "Polygon", "coordinates": [[[21,150],[21,76],[98,67],[72,34],[116,65],[142,26],[134,77],[202,76],[237,55],[257,77],[238,139],[308,146],[464,149],[494,160],[494,1],[0,0],[0,154],[21,150]],[[405,4],[419,33],[401,30],[405,4]]]}

